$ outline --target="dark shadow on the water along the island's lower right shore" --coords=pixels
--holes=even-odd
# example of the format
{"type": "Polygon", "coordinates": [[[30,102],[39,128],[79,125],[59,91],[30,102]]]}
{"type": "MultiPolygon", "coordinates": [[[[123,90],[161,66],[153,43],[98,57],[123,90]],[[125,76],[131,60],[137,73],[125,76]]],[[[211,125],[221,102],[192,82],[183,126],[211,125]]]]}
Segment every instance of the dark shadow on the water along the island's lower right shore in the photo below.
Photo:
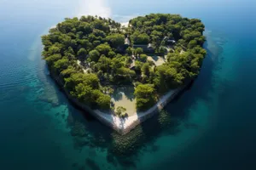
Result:
{"type": "MultiPolygon", "coordinates": [[[[207,48],[207,42],[206,42],[207,48]]],[[[115,157],[120,164],[129,160],[131,167],[136,167],[137,154],[146,148],[146,144],[154,144],[154,141],[161,135],[177,135],[183,131],[182,123],[186,128],[197,128],[197,124],[189,122],[189,111],[195,107],[199,99],[211,102],[209,92],[213,91],[213,71],[216,69],[215,54],[207,50],[207,57],[201,68],[201,74],[192,82],[183,93],[177,95],[169,105],[159,114],[149,118],[130,133],[120,136],[113,135],[114,143],[109,148],[108,155],[115,157]],[[185,122],[185,123],[184,123],[185,122]],[[135,159],[132,159],[135,158],[135,159]]],[[[153,145],[153,151],[158,147],[153,145]]]]}

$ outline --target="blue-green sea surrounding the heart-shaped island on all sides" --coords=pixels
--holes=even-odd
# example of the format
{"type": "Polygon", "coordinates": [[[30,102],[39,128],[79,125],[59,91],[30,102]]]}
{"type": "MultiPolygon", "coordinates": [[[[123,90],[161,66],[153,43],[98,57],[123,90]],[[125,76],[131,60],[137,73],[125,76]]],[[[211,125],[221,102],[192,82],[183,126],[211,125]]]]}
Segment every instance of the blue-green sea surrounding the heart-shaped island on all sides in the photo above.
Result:
{"type": "Polygon", "coordinates": [[[0,0],[0,169],[255,170],[255,18],[255,0],[0,0]],[[149,13],[201,19],[207,57],[187,91],[121,137],[69,104],[40,37],[66,17],[149,13]]]}

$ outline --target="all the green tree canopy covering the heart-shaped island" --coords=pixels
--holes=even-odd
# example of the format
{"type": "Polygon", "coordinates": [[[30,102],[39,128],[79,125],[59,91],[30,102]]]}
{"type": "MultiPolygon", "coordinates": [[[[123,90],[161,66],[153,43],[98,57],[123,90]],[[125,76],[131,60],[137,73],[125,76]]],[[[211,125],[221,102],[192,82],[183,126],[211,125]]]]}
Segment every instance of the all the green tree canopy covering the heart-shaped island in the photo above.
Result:
{"type": "Polygon", "coordinates": [[[42,37],[42,55],[50,71],[60,75],[67,91],[80,102],[108,110],[110,96],[105,88],[113,83],[135,83],[137,108],[143,110],[154,104],[156,93],[178,88],[199,74],[207,54],[202,48],[206,37],[201,20],[178,14],[148,14],[129,23],[122,28],[118,22],[102,17],[67,18],[42,37]],[[143,48],[124,45],[125,37],[131,44],[151,43],[163,54],[170,38],[176,43],[171,44],[173,51],[167,54],[167,62],[155,66],[147,61],[143,48]],[[135,54],[135,60],[131,54],[135,54]],[[90,73],[84,73],[78,59],[90,73]]]}

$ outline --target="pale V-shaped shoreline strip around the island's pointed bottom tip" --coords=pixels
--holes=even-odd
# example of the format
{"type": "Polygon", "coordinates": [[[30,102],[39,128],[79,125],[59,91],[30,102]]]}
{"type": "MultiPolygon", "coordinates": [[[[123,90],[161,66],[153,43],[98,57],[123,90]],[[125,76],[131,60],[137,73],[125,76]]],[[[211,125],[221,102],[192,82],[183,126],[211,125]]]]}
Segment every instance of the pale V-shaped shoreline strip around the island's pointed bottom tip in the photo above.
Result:
{"type": "Polygon", "coordinates": [[[125,135],[131,132],[131,130],[137,127],[137,125],[139,125],[142,122],[145,122],[146,120],[148,120],[148,118],[159,113],[162,109],[164,109],[164,107],[169,102],[172,101],[172,99],[175,99],[178,94],[181,94],[183,90],[187,88],[187,86],[190,84],[190,83],[187,83],[182,88],[170,90],[168,93],[163,95],[160,98],[160,100],[154,106],[149,108],[147,111],[136,112],[133,116],[122,118],[122,117],[114,116],[99,110],[91,110],[90,107],[80,103],[78,99],[73,98],[73,96],[71,96],[67,92],[67,90],[64,88],[64,82],[62,82],[58,76],[56,76],[51,71],[49,71],[49,75],[55,80],[57,85],[61,88],[61,91],[64,92],[64,94],[67,96],[67,99],[71,101],[73,105],[76,105],[82,111],[88,111],[91,116],[94,116],[98,121],[102,122],[108,127],[113,128],[113,130],[117,131],[121,135],[125,135]]]}

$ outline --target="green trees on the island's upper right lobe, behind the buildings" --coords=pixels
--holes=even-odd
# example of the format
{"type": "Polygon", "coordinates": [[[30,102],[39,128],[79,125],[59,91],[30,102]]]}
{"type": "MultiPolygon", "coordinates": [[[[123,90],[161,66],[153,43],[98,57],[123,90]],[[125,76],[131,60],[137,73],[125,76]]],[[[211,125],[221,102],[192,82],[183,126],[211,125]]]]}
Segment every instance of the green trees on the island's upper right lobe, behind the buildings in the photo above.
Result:
{"type": "Polygon", "coordinates": [[[202,36],[205,26],[201,20],[189,20],[177,14],[148,14],[130,20],[129,24],[134,30],[131,40],[136,44],[151,42],[159,48],[164,37],[174,37],[176,41],[182,38],[185,46],[196,38],[198,45],[205,41],[202,36]]]}

